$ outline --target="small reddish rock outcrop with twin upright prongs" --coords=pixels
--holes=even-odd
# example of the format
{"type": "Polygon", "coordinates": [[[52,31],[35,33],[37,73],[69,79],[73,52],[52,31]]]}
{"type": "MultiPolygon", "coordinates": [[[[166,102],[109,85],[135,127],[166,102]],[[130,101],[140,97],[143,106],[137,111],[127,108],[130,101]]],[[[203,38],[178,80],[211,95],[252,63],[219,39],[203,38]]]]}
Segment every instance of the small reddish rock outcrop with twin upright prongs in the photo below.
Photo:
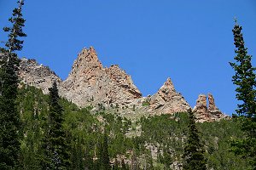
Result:
{"type": "Polygon", "coordinates": [[[226,117],[215,105],[212,94],[200,94],[193,109],[199,122],[218,121],[226,117]],[[207,98],[209,105],[207,106],[207,98]]]}

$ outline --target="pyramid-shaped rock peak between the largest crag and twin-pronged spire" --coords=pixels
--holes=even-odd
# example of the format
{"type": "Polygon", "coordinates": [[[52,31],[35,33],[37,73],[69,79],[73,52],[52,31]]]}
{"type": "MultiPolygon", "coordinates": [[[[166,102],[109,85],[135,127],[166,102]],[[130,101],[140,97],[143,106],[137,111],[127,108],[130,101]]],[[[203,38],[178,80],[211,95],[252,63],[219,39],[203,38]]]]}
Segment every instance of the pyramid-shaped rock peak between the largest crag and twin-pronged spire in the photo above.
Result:
{"type": "Polygon", "coordinates": [[[177,93],[171,78],[167,78],[164,85],[149,99],[150,107],[159,113],[175,113],[188,111],[188,102],[182,94],[177,93]]]}

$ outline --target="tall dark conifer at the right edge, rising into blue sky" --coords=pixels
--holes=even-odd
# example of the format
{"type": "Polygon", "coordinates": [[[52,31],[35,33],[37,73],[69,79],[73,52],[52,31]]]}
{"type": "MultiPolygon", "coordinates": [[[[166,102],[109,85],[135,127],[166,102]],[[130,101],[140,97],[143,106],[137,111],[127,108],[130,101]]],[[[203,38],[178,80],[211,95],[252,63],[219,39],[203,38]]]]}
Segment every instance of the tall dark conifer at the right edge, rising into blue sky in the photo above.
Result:
{"type": "Polygon", "coordinates": [[[250,158],[252,168],[256,169],[256,76],[255,67],[251,62],[252,55],[247,54],[241,30],[241,26],[236,22],[232,30],[236,62],[230,65],[236,72],[232,77],[232,82],[237,86],[236,99],[241,101],[241,104],[237,105],[236,113],[241,116],[242,130],[246,133],[246,138],[234,141],[231,146],[236,155],[250,158]]]}

